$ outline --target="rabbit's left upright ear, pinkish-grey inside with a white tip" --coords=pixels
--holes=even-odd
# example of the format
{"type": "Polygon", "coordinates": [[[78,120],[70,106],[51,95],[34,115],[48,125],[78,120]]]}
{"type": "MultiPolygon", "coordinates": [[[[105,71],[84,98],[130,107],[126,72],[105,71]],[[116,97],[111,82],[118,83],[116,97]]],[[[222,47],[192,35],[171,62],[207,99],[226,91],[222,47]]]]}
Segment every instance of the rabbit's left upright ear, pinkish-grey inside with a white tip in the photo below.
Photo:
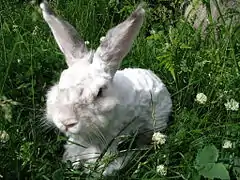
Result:
{"type": "Polygon", "coordinates": [[[80,59],[88,61],[89,58],[87,58],[87,56],[89,52],[87,47],[74,27],[57,17],[46,1],[42,2],[40,7],[43,12],[44,20],[51,28],[59,48],[66,57],[68,66],[71,66],[80,59]]]}

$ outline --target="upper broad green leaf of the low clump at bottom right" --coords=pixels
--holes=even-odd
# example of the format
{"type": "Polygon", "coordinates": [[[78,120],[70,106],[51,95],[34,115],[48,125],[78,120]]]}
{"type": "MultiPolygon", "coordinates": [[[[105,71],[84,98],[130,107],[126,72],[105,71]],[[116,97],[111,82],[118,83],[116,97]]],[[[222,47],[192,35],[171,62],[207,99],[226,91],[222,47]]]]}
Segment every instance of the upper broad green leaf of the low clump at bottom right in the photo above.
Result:
{"type": "Polygon", "coordinates": [[[218,159],[218,149],[214,145],[205,146],[196,157],[197,165],[214,163],[218,159]]]}

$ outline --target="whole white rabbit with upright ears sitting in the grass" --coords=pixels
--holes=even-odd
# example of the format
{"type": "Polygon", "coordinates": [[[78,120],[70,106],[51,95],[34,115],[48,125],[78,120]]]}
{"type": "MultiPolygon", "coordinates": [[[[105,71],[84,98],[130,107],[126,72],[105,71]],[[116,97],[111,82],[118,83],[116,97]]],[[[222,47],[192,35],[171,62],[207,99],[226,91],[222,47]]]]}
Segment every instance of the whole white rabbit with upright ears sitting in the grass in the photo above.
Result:
{"type": "MultiPolygon", "coordinates": [[[[119,134],[167,127],[172,101],[162,81],[150,70],[117,70],[143,23],[141,5],[107,32],[96,51],[89,51],[73,26],[57,17],[46,2],[40,7],[68,64],[47,93],[46,108],[49,122],[69,137],[63,160],[75,166],[94,163],[119,134]]],[[[117,144],[114,140],[108,152],[118,152],[117,144]]],[[[103,174],[121,169],[126,164],[123,159],[117,158],[103,174]]]]}

